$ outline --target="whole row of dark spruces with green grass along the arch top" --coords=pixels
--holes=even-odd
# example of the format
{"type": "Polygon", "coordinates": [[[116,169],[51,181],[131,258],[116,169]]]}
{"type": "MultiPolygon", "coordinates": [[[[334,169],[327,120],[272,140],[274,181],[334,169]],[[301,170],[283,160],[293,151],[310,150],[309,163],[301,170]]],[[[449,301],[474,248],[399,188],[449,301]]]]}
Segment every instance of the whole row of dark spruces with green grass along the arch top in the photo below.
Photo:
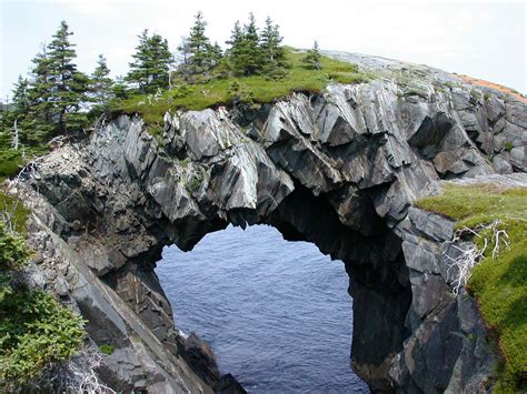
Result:
{"type": "Polygon", "coordinates": [[[12,101],[0,102],[0,178],[13,175],[23,163],[19,151],[46,147],[57,135],[78,134],[102,115],[139,113],[160,137],[169,110],[250,108],[296,91],[317,93],[330,82],[371,78],[354,64],[322,57],[317,42],[307,53],[284,47],[279,27],[269,17],[261,29],[253,14],[245,24],[237,21],[225,50],[212,43],[206,28],[198,12],[176,58],[165,38],[145,29],[129,72],[112,80],[102,54],[91,75],[77,70],[73,33],[62,21],[32,60],[30,75],[20,75],[14,84],[12,101]]]}

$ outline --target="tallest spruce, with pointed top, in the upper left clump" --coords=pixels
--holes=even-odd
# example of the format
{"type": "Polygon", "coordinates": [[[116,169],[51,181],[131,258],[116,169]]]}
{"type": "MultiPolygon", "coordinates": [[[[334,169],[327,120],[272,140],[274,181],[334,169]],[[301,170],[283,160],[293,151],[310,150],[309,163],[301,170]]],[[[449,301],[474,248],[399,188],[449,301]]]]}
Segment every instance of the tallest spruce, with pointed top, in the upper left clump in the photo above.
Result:
{"type": "Polygon", "coordinates": [[[49,80],[53,84],[49,98],[53,104],[53,123],[57,123],[61,134],[68,130],[78,130],[87,122],[82,105],[87,101],[89,80],[73,63],[77,53],[74,44],[69,41],[72,34],[68,23],[62,21],[48,46],[49,80]]]}

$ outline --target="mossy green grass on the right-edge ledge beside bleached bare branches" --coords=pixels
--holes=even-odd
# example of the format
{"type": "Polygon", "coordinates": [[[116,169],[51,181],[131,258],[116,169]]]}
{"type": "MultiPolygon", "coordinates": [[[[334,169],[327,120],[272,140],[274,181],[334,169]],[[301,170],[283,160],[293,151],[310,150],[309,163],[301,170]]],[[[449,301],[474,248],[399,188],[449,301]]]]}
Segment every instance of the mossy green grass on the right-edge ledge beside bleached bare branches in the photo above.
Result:
{"type": "Polygon", "coordinates": [[[496,259],[486,253],[474,269],[468,290],[496,335],[500,358],[496,392],[527,391],[527,188],[446,185],[441,195],[417,205],[455,219],[457,228],[476,229],[499,220],[499,228],[507,231],[510,249],[503,246],[496,259]]]}

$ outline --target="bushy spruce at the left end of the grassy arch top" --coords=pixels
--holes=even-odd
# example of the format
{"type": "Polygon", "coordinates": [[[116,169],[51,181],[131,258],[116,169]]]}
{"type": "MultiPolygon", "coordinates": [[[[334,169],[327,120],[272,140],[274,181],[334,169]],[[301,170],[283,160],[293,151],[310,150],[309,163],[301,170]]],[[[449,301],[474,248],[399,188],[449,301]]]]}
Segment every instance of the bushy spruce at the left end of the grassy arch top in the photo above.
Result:
{"type": "Polygon", "coordinates": [[[138,36],[139,44],[132,55],[127,80],[136,83],[143,93],[155,92],[158,88],[167,88],[170,64],[173,62],[168,41],[159,34],[148,36],[148,29],[138,36]]]}

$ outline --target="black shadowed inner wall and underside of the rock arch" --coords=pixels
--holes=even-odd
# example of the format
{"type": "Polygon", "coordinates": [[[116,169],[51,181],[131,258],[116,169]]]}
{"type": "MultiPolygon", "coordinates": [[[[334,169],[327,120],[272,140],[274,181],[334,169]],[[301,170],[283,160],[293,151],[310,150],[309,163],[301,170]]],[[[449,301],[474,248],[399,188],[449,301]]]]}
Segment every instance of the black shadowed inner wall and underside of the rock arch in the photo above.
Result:
{"type": "MultiPolygon", "coordinates": [[[[344,202],[346,206],[340,208],[335,205],[335,198],[331,193],[315,195],[296,183],[289,195],[264,214],[257,215],[258,209],[229,209],[209,220],[186,216],[173,221],[169,223],[173,232],[162,245],[176,244],[182,251],[191,251],[207,234],[229,224],[243,229],[268,224],[278,230],[284,240],[307,241],[321,254],[342,261],[349,276],[348,291],[355,300],[354,371],[374,391],[389,392],[392,390],[388,377],[391,360],[409,335],[406,316],[411,293],[401,240],[376,214],[371,196],[354,194],[350,201],[344,202]],[[346,212],[344,216],[340,209],[346,212]]],[[[152,263],[161,260],[162,247],[152,252],[152,263]]],[[[163,335],[160,339],[163,340],[163,335]]],[[[349,344],[346,351],[349,357],[349,344]]]]}

